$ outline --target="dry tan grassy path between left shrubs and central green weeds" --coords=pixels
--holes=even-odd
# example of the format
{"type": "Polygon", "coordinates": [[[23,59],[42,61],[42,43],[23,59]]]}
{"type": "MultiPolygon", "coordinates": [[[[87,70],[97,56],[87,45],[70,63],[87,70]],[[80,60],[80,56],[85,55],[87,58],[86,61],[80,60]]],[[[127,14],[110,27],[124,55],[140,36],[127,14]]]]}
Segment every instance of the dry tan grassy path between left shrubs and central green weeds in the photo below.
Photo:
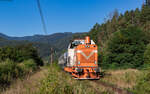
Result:
{"type": "Polygon", "coordinates": [[[46,76],[47,72],[47,68],[41,68],[40,71],[24,80],[17,80],[10,88],[1,94],[34,94],[38,91],[40,81],[46,76]]]}

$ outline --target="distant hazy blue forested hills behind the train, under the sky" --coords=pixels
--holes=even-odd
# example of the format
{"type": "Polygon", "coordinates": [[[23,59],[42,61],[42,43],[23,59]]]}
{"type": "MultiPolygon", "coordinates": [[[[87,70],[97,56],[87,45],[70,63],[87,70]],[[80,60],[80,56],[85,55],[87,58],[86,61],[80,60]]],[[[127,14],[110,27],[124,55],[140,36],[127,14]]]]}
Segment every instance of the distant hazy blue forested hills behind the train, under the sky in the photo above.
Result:
{"type": "Polygon", "coordinates": [[[42,58],[50,55],[50,49],[55,50],[55,56],[59,57],[68,47],[70,40],[82,33],[54,33],[51,35],[34,35],[24,37],[11,37],[0,33],[0,46],[15,46],[32,44],[38,49],[42,58]]]}

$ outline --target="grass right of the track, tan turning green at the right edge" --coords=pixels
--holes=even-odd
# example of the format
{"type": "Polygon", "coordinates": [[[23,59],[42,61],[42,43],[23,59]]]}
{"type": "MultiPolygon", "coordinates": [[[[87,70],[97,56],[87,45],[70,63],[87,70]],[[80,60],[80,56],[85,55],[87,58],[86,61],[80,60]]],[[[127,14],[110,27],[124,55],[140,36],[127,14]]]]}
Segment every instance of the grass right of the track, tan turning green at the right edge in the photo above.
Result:
{"type": "MultiPolygon", "coordinates": [[[[150,94],[150,69],[106,70],[103,78],[106,83],[133,92],[133,94],[150,94]]],[[[105,90],[110,90],[103,87],[105,90]]],[[[113,92],[110,90],[110,92],[113,92]]]]}

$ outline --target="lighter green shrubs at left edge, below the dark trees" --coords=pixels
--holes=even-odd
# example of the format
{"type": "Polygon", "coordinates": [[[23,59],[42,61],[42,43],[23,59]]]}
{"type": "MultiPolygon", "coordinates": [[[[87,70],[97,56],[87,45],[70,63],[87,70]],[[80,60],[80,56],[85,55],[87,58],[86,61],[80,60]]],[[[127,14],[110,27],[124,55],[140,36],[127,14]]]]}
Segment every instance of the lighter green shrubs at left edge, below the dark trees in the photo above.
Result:
{"type": "Polygon", "coordinates": [[[37,69],[36,63],[30,59],[20,64],[9,59],[0,63],[0,90],[9,86],[17,78],[22,78],[25,75],[34,72],[37,69]]]}

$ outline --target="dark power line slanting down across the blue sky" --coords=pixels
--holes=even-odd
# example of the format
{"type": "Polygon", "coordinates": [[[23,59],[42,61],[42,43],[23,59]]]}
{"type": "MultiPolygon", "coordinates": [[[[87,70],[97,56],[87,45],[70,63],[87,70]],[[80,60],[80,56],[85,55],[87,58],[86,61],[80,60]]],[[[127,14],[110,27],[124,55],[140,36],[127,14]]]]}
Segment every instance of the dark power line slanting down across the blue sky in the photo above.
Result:
{"type": "Polygon", "coordinates": [[[37,6],[38,6],[38,9],[39,9],[40,16],[41,16],[43,31],[46,35],[48,35],[47,28],[46,28],[46,23],[45,23],[45,19],[44,19],[44,15],[43,15],[43,11],[42,11],[41,4],[40,4],[40,0],[36,0],[36,1],[37,1],[37,6]]]}

